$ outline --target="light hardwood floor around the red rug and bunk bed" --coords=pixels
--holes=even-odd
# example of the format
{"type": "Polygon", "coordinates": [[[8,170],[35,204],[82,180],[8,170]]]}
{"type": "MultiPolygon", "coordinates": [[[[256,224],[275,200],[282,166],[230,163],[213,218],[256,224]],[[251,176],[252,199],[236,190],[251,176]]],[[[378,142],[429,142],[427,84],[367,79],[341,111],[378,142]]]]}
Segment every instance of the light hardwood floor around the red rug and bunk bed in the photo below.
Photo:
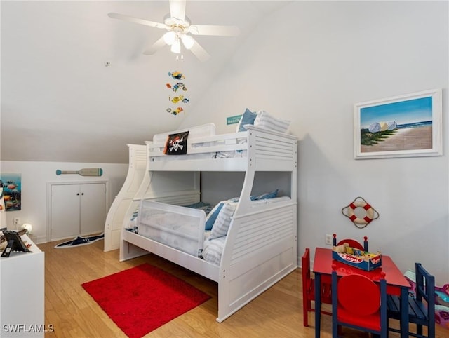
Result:
{"type": "MultiPolygon", "coordinates": [[[[142,263],[153,264],[182,278],[211,296],[207,302],[175,318],[145,337],[314,337],[314,313],[309,327],[302,325],[301,270],[297,269],[272,288],[217,323],[217,284],[187,269],[146,255],[119,262],[119,250],[103,252],[103,241],[79,248],[55,249],[58,242],[40,244],[45,252],[45,323],[54,331],[46,338],[126,337],[100,306],[81,287],[90,280],[108,276],[142,263]]],[[[330,338],[331,320],[322,317],[321,337],[330,338]]],[[[345,337],[367,337],[344,331],[345,337]]],[[[390,334],[390,337],[398,337],[390,334]]],[[[436,338],[449,337],[449,330],[437,325],[436,338]]]]}

